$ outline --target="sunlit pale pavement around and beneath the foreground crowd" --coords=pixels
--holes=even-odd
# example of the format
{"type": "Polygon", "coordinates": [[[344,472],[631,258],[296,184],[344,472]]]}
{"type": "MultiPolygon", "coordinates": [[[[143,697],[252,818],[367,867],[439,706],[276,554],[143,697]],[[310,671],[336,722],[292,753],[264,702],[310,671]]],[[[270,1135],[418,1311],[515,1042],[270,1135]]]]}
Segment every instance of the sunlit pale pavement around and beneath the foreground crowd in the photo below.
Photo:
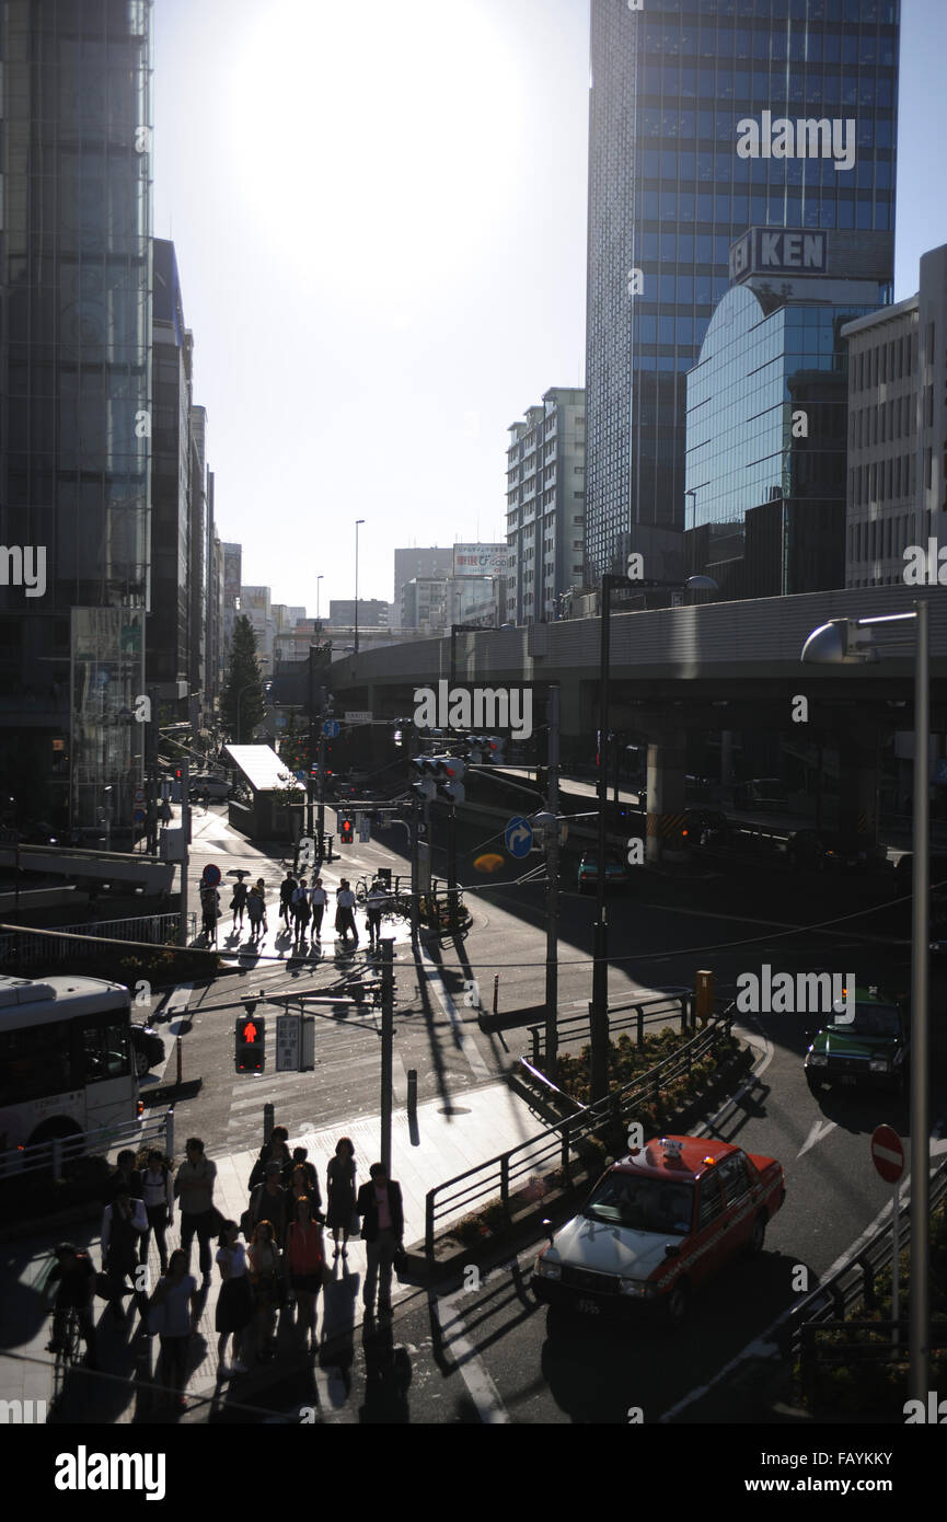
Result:
{"type": "MultiPolygon", "coordinates": [[[[276,1116],[279,1123],[279,1114],[276,1116]]],[[[358,1183],[368,1178],[368,1167],[379,1155],[379,1117],[353,1120],[346,1131],[355,1143],[358,1164],[358,1183]]],[[[405,1110],[394,1111],[391,1123],[391,1172],[402,1186],[405,1204],[405,1245],[411,1247],[423,1237],[425,1231],[425,1196],[428,1189],[445,1180],[463,1173],[466,1169],[484,1163],[498,1152],[527,1140],[542,1129],[542,1122],[528,1110],[504,1082],[486,1084],[478,1090],[458,1093],[455,1102],[443,1097],[429,1100],[417,1106],[417,1128],[408,1123],[405,1110]]],[[[309,1131],[305,1135],[291,1135],[291,1146],[306,1146],[309,1161],[315,1163],[320,1177],[323,1201],[326,1198],[326,1166],[335,1152],[341,1128],[309,1131]]],[[[262,1137],[260,1137],[262,1142],[262,1137]]],[[[247,1180],[257,1158],[256,1151],[238,1152],[225,1157],[213,1157],[218,1166],[218,1186],[215,1204],[228,1219],[239,1221],[247,1208],[247,1180]]],[[[457,1210],[445,1218],[458,1219],[466,1210],[457,1210]]],[[[443,1222],[438,1222],[442,1225],[443,1222]]],[[[53,1359],[44,1352],[49,1339],[49,1315],[41,1298],[41,1283],[50,1265],[50,1251],[59,1236],[72,1237],[79,1247],[90,1247],[96,1266],[99,1266],[99,1222],[90,1221],[82,1228],[73,1227],[56,1237],[35,1237],[29,1242],[9,1243],[5,1254],[5,1266],[0,1289],[0,1350],[21,1355],[24,1361],[0,1358],[0,1399],[5,1400],[50,1400],[53,1385],[53,1359]],[[37,1362],[38,1361],[38,1362],[37,1362]]],[[[169,1250],[177,1247],[180,1239],[180,1218],[175,1212],[175,1224],[167,1233],[169,1250]]],[[[213,1247],[216,1254],[216,1247],[213,1247]]],[[[349,1243],[349,1256],[333,1259],[332,1234],[326,1233],[326,1254],[329,1277],[323,1294],[317,1301],[317,1335],[320,1341],[333,1338],[352,1339],[362,1323],[361,1286],[365,1272],[365,1245],[361,1240],[349,1243]]],[[[151,1283],[157,1283],[158,1254],[151,1245],[151,1283]]],[[[190,1269],[199,1283],[198,1250],[192,1248],[190,1269]]],[[[215,1330],[215,1310],[219,1295],[221,1278],[216,1265],[212,1272],[212,1283],[202,1298],[198,1324],[192,1344],[193,1362],[189,1370],[187,1391],[192,1396],[210,1396],[218,1385],[218,1353],[215,1330]]],[[[411,1285],[399,1285],[393,1278],[393,1303],[416,1294],[411,1285]]],[[[78,1371],[70,1376],[75,1382],[76,1415],[70,1420],[87,1420],[91,1423],[128,1423],[137,1412],[136,1390],[125,1380],[132,1376],[137,1380],[154,1377],[158,1344],[157,1338],[134,1336],[137,1330],[137,1313],[129,1315],[126,1326],[117,1326],[105,1312],[104,1301],[96,1300],[96,1320],[99,1324],[99,1359],[104,1373],[119,1376],[117,1380],[96,1380],[93,1374],[78,1371]],[[79,1414],[81,1412],[81,1414],[79,1414]]],[[[280,1318],[283,1323],[286,1315],[280,1318]]],[[[292,1353],[289,1327],[280,1324],[280,1345],[274,1362],[257,1365],[254,1358],[253,1327],[247,1338],[244,1362],[248,1367],[245,1376],[234,1377],[225,1388],[233,1391],[233,1399],[241,1400],[241,1383],[247,1380],[250,1388],[259,1383],[259,1370],[266,1368],[273,1374],[285,1353],[292,1353]],[[286,1335],[285,1335],[286,1333],[286,1335]]],[[[324,1377],[332,1380],[332,1370],[323,1370],[324,1377]]],[[[248,1400],[251,1397],[248,1396],[248,1400]]]]}

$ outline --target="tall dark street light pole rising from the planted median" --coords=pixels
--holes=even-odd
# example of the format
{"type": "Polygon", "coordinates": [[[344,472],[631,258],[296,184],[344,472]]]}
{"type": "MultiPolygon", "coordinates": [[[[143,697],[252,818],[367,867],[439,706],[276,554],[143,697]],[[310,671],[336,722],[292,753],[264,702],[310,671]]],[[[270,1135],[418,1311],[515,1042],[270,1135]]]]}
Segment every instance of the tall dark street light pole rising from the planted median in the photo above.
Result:
{"type": "Polygon", "coordinates": [[[609,1091],[609,927],[604,907],[606,881],[606,808],[609,796],[609,661],[611,661],[611,612],[612,587],[630,587],[639,592],[649,587],[685,587],[693,591],[717,591],[717,583],[708,575],[691,575],[687,581],[632,580],[627,575],[603,575],[601,578],[601,645],[598,659],[598,860],[595,877],[595,938],[592,942],[592,1001],[589,1005],[591,1036],[591,1094],[604,1099],[609,1091]]]}

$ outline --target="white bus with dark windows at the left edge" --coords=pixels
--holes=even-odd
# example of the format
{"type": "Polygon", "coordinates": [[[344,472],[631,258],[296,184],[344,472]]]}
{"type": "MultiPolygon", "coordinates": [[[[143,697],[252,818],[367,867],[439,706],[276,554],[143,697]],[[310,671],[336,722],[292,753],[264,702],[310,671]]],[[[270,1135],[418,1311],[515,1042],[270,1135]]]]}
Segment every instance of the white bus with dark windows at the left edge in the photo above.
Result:
{"type": "Polygon", "coordinates": [[[0,977],[0,1154],[139,1116],[131,994],[97,977],[0,977]]]}

